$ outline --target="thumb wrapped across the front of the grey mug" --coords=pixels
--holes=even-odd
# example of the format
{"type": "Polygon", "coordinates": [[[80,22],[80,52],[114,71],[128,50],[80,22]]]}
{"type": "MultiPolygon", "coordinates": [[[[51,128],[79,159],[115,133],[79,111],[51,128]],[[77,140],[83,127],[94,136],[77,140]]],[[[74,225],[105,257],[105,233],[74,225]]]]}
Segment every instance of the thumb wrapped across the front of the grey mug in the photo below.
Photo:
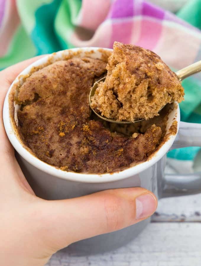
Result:
{"type": "Polygon", "coordinates": [[[48,245],[57,251],[81,239],[122,229],[152,215],[154,194],[143,188],[110,189],[45,202],[48,245]]]}

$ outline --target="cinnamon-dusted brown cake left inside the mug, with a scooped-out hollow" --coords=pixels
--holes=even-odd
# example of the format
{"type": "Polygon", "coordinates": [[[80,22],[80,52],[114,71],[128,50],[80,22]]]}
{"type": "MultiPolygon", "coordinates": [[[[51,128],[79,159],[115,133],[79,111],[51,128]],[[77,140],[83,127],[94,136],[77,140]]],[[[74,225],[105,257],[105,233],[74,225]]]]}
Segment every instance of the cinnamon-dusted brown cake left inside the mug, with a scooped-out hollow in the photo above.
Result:
{"type": "Polygon", "coordinates": [[[106,63],[91,58],[57,61],[33,73],[19,89],[22,141],[44,162],[63,170],[105,173],[147,159],[161,141],[152,125],[145,134],[112,133],[90,116],[88,95],[106,63]]]}

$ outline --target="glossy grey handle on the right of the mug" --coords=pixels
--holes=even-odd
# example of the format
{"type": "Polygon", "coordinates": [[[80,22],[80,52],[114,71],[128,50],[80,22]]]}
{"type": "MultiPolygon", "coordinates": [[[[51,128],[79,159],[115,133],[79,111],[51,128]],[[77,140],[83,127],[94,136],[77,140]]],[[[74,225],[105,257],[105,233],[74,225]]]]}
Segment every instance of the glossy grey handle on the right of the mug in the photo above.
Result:
{"type": "MultiPolygon", "coordinates": [[[[201,147],[201,124],[180,122],[179,132],[170,150],[201,147]]],[[[161,197],[176,197],[201,193],[201,172],[193,174],[165,174],[161,197]]]]}

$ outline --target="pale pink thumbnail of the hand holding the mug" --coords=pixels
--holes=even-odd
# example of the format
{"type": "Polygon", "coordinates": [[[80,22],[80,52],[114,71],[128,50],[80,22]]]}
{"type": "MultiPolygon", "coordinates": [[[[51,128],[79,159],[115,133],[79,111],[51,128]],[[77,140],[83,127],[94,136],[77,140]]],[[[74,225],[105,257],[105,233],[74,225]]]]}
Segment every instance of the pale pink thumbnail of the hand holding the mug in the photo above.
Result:
{"type": "Polygon", "coordinates": [[[152,215],[156,210],[156,200],[152,194],[143,194],[135,199],[136,219],[152,215]]]}

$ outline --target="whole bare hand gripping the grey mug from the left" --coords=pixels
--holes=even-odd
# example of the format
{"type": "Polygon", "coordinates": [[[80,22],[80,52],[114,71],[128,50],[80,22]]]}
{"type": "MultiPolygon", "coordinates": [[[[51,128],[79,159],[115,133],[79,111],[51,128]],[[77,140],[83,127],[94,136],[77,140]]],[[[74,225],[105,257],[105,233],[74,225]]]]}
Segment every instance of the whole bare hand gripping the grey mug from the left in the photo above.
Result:
{"type": "Polygon", "coordinates": [[[38,57],[0,72],[0,261],[44,265],[69,244],[138,223],[152,215],[155,196],[143,188],[112,189],[68,200],[35,196],[4,130],[4,98],[14,78],[38,57]]]}

